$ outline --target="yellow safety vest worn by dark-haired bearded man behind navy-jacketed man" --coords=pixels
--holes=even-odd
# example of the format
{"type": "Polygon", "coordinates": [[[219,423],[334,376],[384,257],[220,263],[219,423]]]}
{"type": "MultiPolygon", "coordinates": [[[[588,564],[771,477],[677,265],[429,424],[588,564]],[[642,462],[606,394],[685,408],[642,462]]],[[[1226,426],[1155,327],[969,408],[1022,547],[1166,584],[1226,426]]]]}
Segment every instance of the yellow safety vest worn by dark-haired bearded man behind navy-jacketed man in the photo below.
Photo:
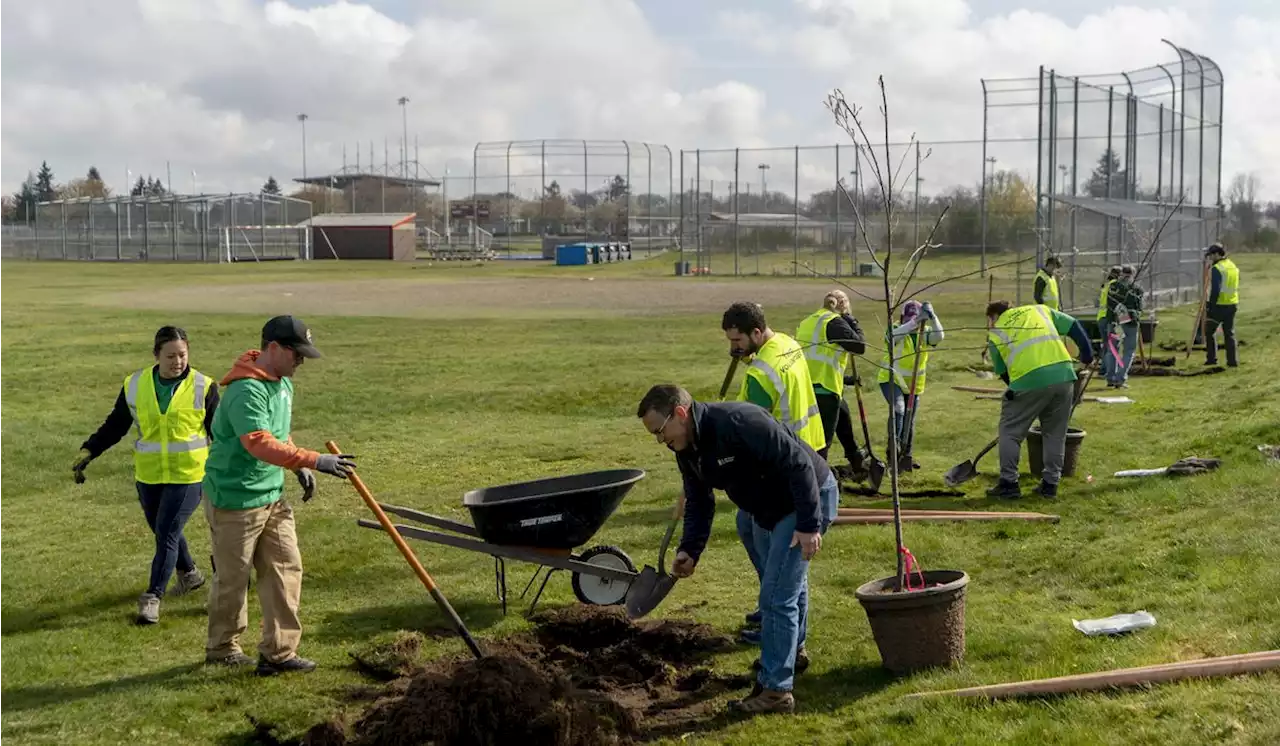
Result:
{"type": "Polygon", "coordinates": [[[746,401],[746,384],[754,379],[773,402],[773,418],[786,425],[814,450],[819,450],[827,447],[827,434],[822,429],[822,415],[818,412],[818,397],[813,393],[809,366],[804,362],[800,344],[786,334],[774,331],[746,366],[739,399],[746,401]]]}

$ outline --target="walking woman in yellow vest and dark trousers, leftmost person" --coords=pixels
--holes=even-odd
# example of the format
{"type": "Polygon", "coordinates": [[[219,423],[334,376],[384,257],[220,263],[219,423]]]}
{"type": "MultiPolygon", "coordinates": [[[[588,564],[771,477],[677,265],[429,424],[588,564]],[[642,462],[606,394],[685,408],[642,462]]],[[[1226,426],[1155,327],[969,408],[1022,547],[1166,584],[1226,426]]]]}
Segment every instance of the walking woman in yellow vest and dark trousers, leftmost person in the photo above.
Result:
{"type": "Polygon", "coordinates": [[[187,548],[183,527],[196,512],[209,456],[209,425],[218,408],[218,384],[187,365],[187,333],[177,326],[156,331],[156,365],[124,379],[115,407],[97,433],[81,445],[73,471],[84,481],[91,461],[133,430],[133,471],[138,502],[155,535],[151,580],[138,598],[140,624],[160,621],[160,599],[177,571],[174,595],[205,583],[187,548]]]}

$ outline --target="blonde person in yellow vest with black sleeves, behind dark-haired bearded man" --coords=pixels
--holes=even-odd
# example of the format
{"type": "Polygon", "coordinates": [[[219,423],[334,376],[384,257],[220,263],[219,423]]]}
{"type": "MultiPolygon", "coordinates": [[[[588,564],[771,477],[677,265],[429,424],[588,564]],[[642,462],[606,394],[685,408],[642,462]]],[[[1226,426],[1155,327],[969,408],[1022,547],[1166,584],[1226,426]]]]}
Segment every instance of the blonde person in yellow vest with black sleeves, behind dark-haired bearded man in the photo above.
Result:
{"type": "Polygon", "coordinates": [[[865,473],[863,454],[854,439],[854,421],[845,402],[845,386],[854,384],[854,376],[845,371],[849,358],[867,352],[863,330],[850,313],[849,296],[844,290],[831,290],[818,308],[796,328],[796,342],[804,348],[804,358],[809,363],[809,377],[813,380],[813,393],[822,413],[822,430],[827,436],[826,445],[818,449],[818,456],[831,462],[831,444],[840,438],[849,458],[850,470],[865,473]]]}

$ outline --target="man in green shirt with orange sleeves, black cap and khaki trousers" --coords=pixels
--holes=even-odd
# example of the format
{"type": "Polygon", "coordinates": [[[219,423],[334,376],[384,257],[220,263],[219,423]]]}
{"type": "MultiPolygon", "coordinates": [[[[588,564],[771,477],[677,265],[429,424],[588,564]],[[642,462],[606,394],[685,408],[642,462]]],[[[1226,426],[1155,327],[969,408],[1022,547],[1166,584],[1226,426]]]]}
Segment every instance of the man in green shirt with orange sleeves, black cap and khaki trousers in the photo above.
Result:
{"type": "Polygon", "coordinates": [[[307,672],[316,664],[298,656],[302,623],[302,555],[293,508],[284,500],[284,470],[302,485],[302,500],[315,491],[311,470],[346,479],[349,456],[321,454],[293,445],[293,381],[308,357],[320,357],[311,330],[292,316],[262,328],[262,348],[242,354],[221,380],[223,401],[212,422],[205,464],[205,516],[212,535],[214,583],[209,595],[205,660],[252,664],[241,650],[248,627],[248,578],[256,569],[262,604],[257,673],[307,672]]]}

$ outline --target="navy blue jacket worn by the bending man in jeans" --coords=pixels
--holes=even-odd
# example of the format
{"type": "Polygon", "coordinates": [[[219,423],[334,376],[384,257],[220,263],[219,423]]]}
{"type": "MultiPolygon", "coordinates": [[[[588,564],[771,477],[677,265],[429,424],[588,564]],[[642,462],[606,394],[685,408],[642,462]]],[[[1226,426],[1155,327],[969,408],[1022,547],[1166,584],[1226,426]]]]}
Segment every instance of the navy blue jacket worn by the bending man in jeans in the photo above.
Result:
{"type": "Polygon", "coordinates": [[[680,552],[695,560],[707,548],[716,517],[712,490],[724,490],[764,528],[796,514],[796,531],[819,528],[818,488],[831,476],[827,462],[756,404],[694,402],[690,447],[676,454],[685,482],[685,532],[680,552]]]}

